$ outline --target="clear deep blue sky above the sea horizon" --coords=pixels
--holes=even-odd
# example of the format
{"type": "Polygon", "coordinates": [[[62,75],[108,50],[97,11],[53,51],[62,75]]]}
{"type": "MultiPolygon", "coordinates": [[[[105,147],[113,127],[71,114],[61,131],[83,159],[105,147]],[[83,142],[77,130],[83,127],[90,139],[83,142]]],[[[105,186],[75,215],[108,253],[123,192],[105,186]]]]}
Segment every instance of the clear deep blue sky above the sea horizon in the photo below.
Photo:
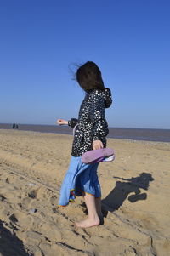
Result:
{"type": "Polygon", "coordinates": [[[110,127],[170,128],[170,1],[0,1],[0,122],[54,124],[84,97],[70,67],[111,88],[110,127]]]}

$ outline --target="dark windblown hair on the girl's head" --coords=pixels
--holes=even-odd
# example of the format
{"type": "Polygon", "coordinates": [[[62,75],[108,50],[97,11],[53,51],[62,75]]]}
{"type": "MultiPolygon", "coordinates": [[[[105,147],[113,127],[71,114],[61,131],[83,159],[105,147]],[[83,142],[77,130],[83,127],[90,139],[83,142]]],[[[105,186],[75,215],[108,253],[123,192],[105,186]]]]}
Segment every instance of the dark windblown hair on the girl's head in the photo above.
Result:
{"type": "Polygon", "coordinates": [[[81,65],[77,69],[76,78],[79,85],[86,92],[92,89],[105,90],[101,71],[93,61],[81,65]]]}

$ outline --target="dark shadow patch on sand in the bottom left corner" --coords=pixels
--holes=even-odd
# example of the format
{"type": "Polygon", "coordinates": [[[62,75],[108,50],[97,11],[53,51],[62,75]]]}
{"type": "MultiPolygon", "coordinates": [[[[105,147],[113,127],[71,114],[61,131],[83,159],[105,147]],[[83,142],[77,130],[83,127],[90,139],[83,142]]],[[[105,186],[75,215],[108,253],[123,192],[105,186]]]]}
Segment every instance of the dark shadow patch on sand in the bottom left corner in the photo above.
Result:
{"type": "MultiPolygon", "coordinates": [[[[14,231],[13,231],[14,232],[14,231]]],[[[23,242],[12,234],[0,220],[0,255],[3,256],[31,256],[26,253],[23,242]]]]}

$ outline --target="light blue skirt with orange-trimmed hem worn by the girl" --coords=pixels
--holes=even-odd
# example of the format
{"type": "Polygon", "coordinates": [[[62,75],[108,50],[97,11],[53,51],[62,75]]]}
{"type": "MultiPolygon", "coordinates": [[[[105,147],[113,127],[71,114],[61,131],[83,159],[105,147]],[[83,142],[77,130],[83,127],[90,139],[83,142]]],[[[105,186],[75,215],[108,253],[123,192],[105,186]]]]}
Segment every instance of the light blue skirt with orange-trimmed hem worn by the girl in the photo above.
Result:
{"type": "Polygon", "coordinates": [[[99,162],[83,163],[81,156],[71,156],[70,166],[61,185],[59,206],[66,206],[83,192],[101,197],[101,189],[97,175],[99,162]]]}

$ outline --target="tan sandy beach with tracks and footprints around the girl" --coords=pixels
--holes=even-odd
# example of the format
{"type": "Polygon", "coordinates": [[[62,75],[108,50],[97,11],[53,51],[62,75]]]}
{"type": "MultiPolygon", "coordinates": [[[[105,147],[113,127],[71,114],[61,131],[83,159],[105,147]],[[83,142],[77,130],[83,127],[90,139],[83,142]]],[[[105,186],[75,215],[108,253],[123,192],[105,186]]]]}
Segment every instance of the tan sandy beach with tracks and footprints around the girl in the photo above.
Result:
{"type": "Polygon", "coordinates": [[[170,255],[170,144],[108,139],[100,163],[104,225],[85,219],[82,197],[58,208],[72,137],[0,130],[0,255],[170,255]]]}

